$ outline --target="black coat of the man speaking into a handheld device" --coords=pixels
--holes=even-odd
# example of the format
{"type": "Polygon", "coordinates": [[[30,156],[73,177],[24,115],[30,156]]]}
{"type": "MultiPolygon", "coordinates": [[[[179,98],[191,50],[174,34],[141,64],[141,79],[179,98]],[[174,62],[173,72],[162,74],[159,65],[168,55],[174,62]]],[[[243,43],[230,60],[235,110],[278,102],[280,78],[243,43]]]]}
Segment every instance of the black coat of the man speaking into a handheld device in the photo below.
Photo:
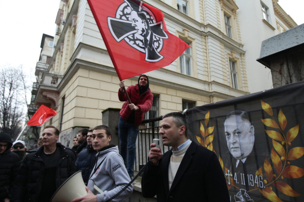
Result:
{"type": "Polygon", "coordinates": [[[157,201],[229,201],[223,170],[216,154],[192,142],[169,190],[168,167],[172,151],[162,155],[158,165],[148,163],[141,186],[143,197],[157,201]]]}

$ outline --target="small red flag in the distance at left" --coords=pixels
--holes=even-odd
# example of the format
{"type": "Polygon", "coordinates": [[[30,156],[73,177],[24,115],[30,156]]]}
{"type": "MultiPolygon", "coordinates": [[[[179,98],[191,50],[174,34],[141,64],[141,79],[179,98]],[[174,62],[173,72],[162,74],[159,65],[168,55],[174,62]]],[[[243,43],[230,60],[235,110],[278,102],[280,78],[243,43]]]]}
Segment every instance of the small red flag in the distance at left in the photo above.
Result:
{"type": "Polygon", "coordinates": [[[56,114],[57,112],[55,110],[48,108],[47,106],[41,105],[26,124],[29,126],[40,126],[50,120],[56,114]]]}

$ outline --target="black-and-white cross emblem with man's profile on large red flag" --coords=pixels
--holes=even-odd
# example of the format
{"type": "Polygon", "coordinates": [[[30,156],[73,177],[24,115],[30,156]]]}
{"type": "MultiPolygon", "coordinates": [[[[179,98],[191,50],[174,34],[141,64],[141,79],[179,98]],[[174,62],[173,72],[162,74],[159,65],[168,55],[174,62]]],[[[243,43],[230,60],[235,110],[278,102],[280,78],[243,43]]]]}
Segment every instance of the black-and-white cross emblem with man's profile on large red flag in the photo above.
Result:
{"type": "Polygon", "coordinates": [[[163,39],[168,39],[168,35],[163,30],[162,21],[157,22],[143,2],[125,0],[117,8],[115,18],[108,17],[108,26],[117,42],[125,40],[131,47],[145,53],[147,62],[164,58],[159,52],[163,48],[163,39]]]}

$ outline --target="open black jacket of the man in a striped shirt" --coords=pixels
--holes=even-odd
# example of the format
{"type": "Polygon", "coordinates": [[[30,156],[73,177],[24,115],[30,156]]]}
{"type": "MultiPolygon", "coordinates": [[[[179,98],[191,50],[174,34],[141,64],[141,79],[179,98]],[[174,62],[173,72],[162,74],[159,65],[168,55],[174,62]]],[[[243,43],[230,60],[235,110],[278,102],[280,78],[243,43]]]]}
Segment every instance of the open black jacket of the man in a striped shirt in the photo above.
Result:
{"type": "MultiPolygon", "coordinates": [[[[76,170],[75,154],[60,143],[56,146],[60,149],[60,159],[56,168],[56,189],[64,183],[76,170]]],[[[43,182],[44,163],[40,157],[44,146],[40,146],[37,152],[29,153],[19,169],[16,191],[12,201],[37,201],[40,196],[43,182]]]]}

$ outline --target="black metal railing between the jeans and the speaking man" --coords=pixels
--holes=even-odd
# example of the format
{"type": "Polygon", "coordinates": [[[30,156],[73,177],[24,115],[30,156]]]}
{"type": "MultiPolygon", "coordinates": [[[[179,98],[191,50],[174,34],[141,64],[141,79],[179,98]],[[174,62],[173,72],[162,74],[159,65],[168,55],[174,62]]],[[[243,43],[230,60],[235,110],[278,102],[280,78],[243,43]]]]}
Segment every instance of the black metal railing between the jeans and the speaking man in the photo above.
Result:
{"type": "MultiPolygon", "coordinates": [[[[138,172],[148,161],[148,153],[150,151],[150,144],[154,138],[161,139],[161,135],[158,133],[160,126],[158,126],[158,121],[162,119],[162,116],[143,120],[142,125],[139,126],[138,136],[136,140],[136,158],[134,165],[134,172],[138,172]],[[151,127],[147,128],[146,123],[151,127]]],[[[169,150],[168,146],[164,146],[161,141],[162,153],[169,150]]]]}

